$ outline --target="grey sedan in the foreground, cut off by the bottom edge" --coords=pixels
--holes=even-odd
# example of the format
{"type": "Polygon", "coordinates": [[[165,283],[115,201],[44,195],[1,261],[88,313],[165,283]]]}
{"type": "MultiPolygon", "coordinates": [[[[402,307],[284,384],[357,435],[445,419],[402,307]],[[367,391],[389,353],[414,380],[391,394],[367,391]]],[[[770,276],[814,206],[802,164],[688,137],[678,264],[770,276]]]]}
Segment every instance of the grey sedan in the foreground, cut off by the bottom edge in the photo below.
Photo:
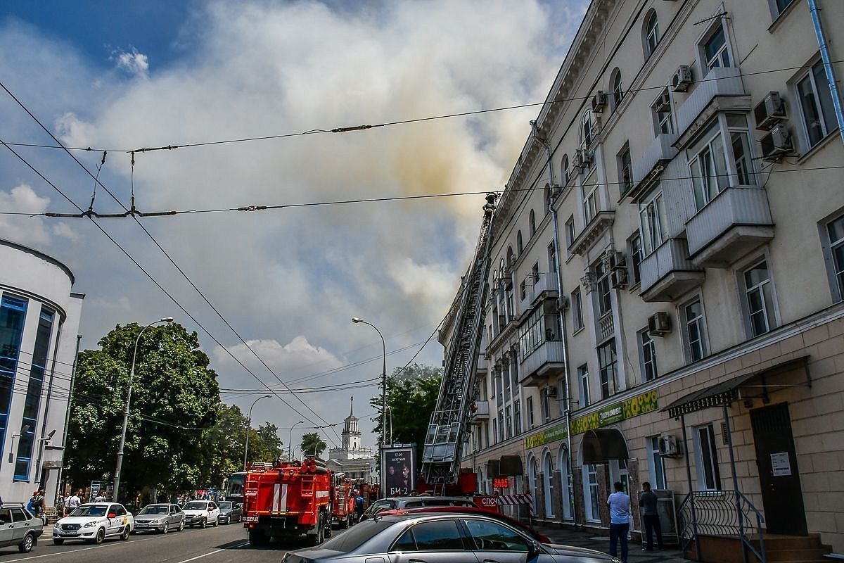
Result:
{"type": "Polygon", "coordinates": [[[579,547],[540,544],[521,529],[475,513],[376,516],[313,548],[284,555],[282,563],[620,563],[579,547]]]}

